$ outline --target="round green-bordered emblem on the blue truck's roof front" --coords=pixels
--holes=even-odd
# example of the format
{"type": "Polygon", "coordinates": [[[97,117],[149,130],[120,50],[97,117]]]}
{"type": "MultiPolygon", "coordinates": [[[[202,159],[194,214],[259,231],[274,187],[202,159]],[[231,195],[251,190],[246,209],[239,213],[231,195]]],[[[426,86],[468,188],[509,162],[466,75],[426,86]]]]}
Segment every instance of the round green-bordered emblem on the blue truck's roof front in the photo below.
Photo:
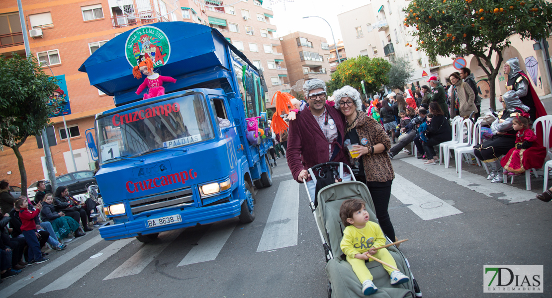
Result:
{"type": "Polygon", "coordinates": [[[132,67],[146,58],[153,61],[153,67],[167,64],[171,56],[171,44],[167,35],[153,26],[142,26],[132,31],[126,39],[126,60],[132,67]]]}

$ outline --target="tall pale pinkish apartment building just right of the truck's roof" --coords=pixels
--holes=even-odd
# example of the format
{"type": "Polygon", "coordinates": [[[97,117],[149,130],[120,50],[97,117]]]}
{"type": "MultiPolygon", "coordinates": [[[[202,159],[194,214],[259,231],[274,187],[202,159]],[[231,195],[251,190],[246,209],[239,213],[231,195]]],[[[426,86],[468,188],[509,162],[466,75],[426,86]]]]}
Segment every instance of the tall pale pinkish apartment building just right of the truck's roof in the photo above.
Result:
{"type": "MultiPolygon", "coordinates": [[[[238,50],[263,72],[267,84],[267,102],[276,91],[289,91],[284,55],[277,47],[274,13],[259,0],[246,0],[225,6],[222,1],[205,1],[208,25],[219,30],[238,50]]],[[[182,8],[186,15],[185,8],[182,8]]],[[[267,105],[267,107],[274,107],[267,105]]]]}

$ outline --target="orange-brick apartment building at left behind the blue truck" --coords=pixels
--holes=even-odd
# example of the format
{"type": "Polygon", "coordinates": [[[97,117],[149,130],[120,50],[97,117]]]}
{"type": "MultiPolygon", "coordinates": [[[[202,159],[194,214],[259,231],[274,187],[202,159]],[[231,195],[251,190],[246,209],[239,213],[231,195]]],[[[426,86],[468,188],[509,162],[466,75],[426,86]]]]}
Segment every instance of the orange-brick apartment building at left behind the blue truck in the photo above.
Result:
{"type": "MultiPolygon", "coordinates": [[[[163,2],[159,0],[156,3],[163,2]]],[[[206,24],[207,17],[201,12],[199,2],[181,0],[180,3],[196,12],[197,18],[187,21],[206,24]]],[[[22,0],[22,4],[33,55],[48,64],[50,68],[43,67],[47,74],[65,75],[67,82],[71,105],[71,114],[65,116],[68,136],[61,117],[51,118],[57,140],[57,145],[51,147],[56,175],[90,170],[93,160],[85,144],[84,131],[94,126],[96,113],[111,109],[114,104],[112,97],[91,86],[87,74],[79,72],[78,68],[95,50],[122,32],[160,21],[182,21],[182,15],[178,10],[169,13],[163,5],[147,9],[134,7],[133,4],[123,7],[126,12],[130,12],[128,15],[116,0],[22,0]],[[67,138],[71,140],[77,169],[73,166],[67,138]]],[[[4,0],[0,2],[0,54],[10,57],[12,52],[25,56],[23,32],[17,1],[4,0]]],[[[38,149],[35,138],[28,138],[20,151],[28,184],[47,177],[44,151],[38,149]]],[[[13,150],[5,148],[0,151],[0,161],[0,178],[17,185],[20,174],[13,150]]]]}

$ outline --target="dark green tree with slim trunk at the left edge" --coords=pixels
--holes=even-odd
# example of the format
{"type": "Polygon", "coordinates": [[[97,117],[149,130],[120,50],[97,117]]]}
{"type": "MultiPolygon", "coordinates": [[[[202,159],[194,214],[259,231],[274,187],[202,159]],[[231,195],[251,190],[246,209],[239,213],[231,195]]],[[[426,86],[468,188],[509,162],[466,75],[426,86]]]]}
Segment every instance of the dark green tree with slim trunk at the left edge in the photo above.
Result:
{"type": "Polygon", "coordinates": [[[27,178],[19,147],[50,122],[53,106],[48,105],[48,97],[57,88],[34,56],[0,56],[0,148],[10,147],[17,156],[23,195],[27,178]]]}

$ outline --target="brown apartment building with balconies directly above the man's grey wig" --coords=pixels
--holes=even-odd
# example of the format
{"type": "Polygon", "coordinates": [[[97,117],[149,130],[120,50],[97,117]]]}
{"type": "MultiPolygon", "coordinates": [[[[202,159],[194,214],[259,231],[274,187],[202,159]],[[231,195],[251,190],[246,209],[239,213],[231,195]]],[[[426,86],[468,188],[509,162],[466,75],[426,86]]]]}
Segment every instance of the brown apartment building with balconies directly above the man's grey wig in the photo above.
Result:
{"type": "Polygon", "coordinates": [[[312,78],[330,79],[330,47],[324,37],[298,31],[282,36],[280,42],[291,86],[312,78]]]}

